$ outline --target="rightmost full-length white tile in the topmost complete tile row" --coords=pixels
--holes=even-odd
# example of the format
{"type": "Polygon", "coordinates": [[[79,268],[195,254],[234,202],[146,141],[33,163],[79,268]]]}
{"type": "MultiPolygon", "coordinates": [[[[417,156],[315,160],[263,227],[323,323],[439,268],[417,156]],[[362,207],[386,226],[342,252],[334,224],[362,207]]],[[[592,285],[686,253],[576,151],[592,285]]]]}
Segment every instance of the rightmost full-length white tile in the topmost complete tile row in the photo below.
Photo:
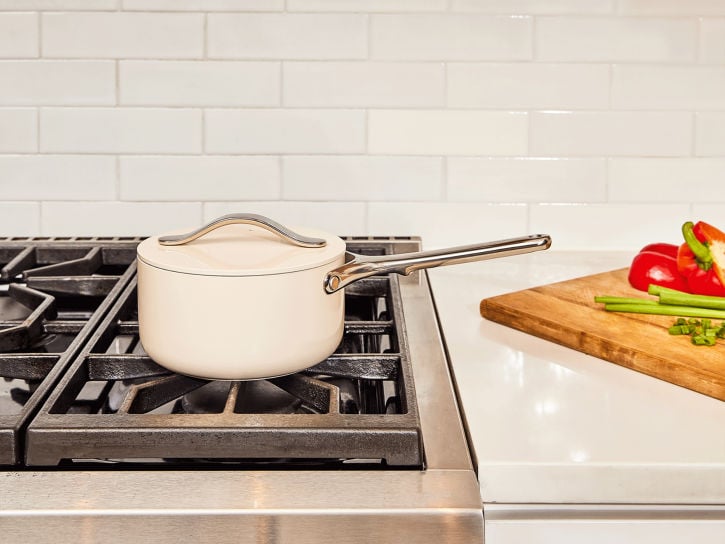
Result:
{"type": "Polygon", "coordinates": [[[541,17],[536,58],[590,62],[688,62],[697,22],[688,18],[541,17]]]}

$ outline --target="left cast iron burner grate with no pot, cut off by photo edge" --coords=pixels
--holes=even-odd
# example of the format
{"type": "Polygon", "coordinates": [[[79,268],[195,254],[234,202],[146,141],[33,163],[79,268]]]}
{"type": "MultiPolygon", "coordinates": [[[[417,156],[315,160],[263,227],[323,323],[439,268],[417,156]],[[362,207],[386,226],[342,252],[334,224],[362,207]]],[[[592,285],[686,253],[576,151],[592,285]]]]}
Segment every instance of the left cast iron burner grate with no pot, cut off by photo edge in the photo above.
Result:
{"type": "Polygon", "coordinates": [[[140,238],[0,238],[0,465],[121,288],[140,238]]]}

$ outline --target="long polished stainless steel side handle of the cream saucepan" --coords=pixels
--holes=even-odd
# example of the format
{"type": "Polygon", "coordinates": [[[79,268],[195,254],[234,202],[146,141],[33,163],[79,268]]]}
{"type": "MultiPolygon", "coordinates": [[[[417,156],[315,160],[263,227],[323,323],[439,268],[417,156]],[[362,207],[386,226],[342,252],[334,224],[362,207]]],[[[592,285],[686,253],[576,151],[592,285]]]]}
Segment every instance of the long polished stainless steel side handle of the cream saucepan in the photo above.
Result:
{"type": "Polygon", "coordinates": [[[385,255],[382,257],[369,257],[347,253],[347,263],[331,270],[325,277],[325,291],[334,293],[346,285],[378,274],[403,274],[422,268],[434,268],[450,264],[469,263],[494,259],[508,255],[519,255],[548,249],[551,246],[551,237],[547,234],[532,234],[520,238],[509,238],[483,244],[458,246],[433,251],[417,253],[403,253],[399,255],[385,255]]]}

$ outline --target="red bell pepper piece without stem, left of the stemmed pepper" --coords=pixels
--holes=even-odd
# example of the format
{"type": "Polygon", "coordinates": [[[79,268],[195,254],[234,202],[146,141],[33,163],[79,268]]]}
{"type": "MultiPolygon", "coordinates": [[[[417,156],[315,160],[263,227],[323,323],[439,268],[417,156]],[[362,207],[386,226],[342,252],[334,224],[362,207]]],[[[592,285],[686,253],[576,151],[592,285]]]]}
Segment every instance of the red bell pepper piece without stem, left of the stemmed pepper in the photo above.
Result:
{"type": "Polygon", "coordinates": [[[632,260],[629,283],[647,291],[650,284],[689,292],[685,278],[677,269],[678,247],[674,244],[648,244],[632,260]]]}

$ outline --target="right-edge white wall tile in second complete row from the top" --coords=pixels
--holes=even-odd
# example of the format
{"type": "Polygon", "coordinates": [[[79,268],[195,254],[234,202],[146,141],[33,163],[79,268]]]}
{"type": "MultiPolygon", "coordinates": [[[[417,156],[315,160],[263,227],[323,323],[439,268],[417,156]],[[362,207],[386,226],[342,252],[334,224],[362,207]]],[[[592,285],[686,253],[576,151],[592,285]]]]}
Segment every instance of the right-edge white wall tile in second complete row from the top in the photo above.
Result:
{"type": "Polygon", "coordinates": [[[618,65],[612,73],[616,109],[724,109],[721,66],[618,65]]]}

